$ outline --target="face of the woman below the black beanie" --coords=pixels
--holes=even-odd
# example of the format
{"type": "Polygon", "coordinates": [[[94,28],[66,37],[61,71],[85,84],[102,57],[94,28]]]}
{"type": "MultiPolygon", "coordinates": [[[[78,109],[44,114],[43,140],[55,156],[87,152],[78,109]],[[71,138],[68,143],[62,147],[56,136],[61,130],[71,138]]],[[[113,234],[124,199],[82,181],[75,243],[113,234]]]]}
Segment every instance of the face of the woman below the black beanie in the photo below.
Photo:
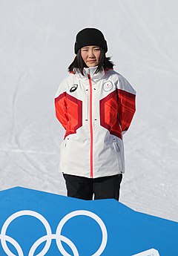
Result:
{"type": "Polygon", "coordinates": [[[81,48],[82,59],[88,68],[99,65],[100,54],[99,46],[89,45],[81,48]]]}

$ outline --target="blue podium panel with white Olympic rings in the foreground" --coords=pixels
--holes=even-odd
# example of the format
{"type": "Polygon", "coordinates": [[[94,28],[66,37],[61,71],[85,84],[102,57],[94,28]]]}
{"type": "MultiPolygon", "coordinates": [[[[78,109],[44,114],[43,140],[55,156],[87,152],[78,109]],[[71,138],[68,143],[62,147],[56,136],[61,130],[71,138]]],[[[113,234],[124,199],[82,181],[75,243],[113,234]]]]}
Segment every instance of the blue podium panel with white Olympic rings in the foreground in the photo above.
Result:
{"type": "Polygon", "coordinates": [[[1,256],[132,256],[152,248],[160,256],[177,256],[177,239],[178,223],[116,200],[85,201],[27,188],[0,192],[1,256]]]}

